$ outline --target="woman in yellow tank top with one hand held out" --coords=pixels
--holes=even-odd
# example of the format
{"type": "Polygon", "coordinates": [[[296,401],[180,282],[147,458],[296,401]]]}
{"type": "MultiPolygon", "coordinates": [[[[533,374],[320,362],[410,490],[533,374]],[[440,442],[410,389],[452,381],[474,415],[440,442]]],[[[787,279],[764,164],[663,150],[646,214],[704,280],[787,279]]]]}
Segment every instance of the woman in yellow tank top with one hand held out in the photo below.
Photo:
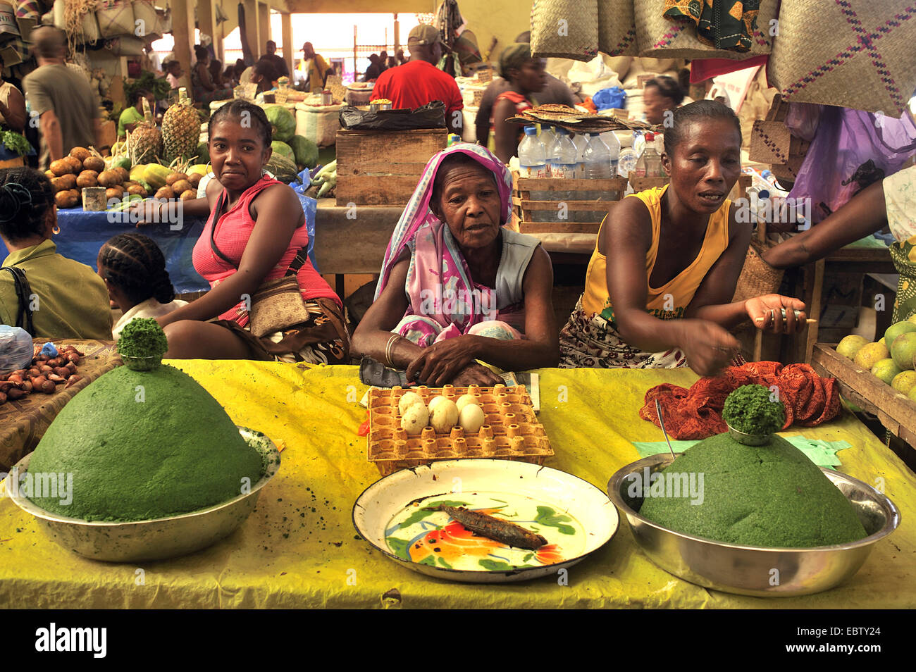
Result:
{"type": "Polygon", "coordinates": [[[741,322],[774,333],[804,327],[797,298],[731,300],[751,237],[725,198],[741,172],[740,148],[738,119],[725,105],[698,101],[674,112],[661,157],[671,182],[605,217],[585,291],[561,332],[562,367],[688,364],[715,374],[736,354],[727,330],[741,322]]]}

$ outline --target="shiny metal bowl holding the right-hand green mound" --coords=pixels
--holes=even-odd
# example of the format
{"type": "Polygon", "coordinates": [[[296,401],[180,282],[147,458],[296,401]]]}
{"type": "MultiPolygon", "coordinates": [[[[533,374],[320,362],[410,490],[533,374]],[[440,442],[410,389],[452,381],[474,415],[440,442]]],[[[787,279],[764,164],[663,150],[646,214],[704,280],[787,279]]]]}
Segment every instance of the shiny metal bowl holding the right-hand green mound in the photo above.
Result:
{"type": "MultiPolygon", "coordinates": [[[[681,453],[678,453],[679,455],[681,453]]],[[[669,454],[651,455],[617,471],[607,483],[611,501],[624,517],[643,552],[661,569],[716,591],[758,597],[791,597],[827,591],[851,578],[872,547],[900,525],[900,511],[885,495],[839,471],[821,469],[839,488],[865,527],[868,537],[848,544],[812,548],[736,546],[692,537],[639,515],[642,497],[627,493],[630,474],[660,471],[669,454]],[[773,585],[775,584],[775,585],[773,585]]]]}

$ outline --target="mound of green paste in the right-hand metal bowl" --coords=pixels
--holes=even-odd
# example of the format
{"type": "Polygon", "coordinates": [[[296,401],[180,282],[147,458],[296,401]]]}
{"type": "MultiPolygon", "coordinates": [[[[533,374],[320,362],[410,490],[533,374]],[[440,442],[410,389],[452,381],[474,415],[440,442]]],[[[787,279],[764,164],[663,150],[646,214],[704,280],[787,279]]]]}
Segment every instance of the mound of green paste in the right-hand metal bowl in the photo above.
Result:
{"type": "Polygon", "coordinates": [[[843,493],[801,450],[779,436],[766,446],[745,446],[728,434],[703,439],[662,470],[668,472],[697,474],[697,485],[702,473],[702,504],[691,504],[684,496],[649,496],[639,513],[677,532],[741,546],[782,548],[830,546],[867,537],[843,493]]]}

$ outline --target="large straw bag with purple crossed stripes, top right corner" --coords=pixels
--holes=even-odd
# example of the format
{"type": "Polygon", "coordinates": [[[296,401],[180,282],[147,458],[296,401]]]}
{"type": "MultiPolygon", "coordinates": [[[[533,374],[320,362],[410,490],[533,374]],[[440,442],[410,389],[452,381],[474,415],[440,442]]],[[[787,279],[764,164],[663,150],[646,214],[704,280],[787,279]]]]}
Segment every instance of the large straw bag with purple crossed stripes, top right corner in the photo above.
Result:
{"type": "Polygon", "coordinates": [[[912,0],[782,0],[769,81],[783,99],[899,117],[916,89],[912,0]]]}

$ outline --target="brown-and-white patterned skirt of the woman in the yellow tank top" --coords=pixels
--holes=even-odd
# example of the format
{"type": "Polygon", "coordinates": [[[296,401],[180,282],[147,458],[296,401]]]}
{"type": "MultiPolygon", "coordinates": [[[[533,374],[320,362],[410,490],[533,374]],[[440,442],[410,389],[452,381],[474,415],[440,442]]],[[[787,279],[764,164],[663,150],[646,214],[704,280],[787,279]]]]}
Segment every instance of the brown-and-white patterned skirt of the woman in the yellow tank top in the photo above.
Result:
{"type": "Polygon", "coordinates": [[[590,318],[585,314],[581,297],[560,332],[562,369],[674,369],[686,363],[686,356],[678,348],[644,352],[627,345],[601,315],[590,318]]]}

